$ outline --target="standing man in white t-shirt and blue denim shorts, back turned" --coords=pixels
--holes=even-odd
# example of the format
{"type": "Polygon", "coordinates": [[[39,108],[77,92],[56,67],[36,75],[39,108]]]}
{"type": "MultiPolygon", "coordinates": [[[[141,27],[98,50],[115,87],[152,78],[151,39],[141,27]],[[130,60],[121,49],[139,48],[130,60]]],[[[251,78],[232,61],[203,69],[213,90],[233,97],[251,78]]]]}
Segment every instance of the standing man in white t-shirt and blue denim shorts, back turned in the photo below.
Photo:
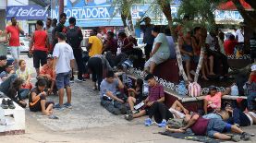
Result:
{"type": "Polygon", "coordinates": [[[62,32],[57,34],[58,43],[55,44],[54,49],[54,69],[56,73],[56,87],[59,94],[59,103],[55,105],[55,109],[63,109],[63,106],[72,108],[71,106],[71,88],[70,88],[70,74],[71,69],[74,68],[74,54],[71,46],[66,42],[66,35],[62,32]],[[63,103],[64,88],[67,92],[67,102],[63,103]]]}

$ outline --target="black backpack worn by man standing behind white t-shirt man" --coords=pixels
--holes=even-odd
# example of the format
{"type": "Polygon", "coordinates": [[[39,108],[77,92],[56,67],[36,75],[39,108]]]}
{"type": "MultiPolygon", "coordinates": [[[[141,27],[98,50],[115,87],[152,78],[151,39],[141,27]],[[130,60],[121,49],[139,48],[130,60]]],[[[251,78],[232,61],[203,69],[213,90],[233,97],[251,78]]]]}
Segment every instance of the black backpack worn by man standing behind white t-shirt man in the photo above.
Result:
{"type": "Polygon", "coordinates": [[[79,27],[75,26],[73,29],[67,27],[67,43],[76,49],[80,47],[80,42],[79,27]]]}

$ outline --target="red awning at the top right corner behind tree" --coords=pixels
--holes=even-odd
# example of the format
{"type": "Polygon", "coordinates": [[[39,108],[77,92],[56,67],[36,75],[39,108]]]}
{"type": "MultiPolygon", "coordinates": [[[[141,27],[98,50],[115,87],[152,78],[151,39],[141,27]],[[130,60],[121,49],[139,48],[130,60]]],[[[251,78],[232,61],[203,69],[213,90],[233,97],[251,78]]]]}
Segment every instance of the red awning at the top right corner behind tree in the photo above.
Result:
{"type": "MultiPolygon", "coordinates": [[[[247,4],[244,0],[240,0],[240,3],[246,10],[252,9],[251,6],[247,4]]],[[[234,5],[232,1],[229,1],[218,6],[218,9],[219,10],[237,10],[238,8],[234,5]]]]}

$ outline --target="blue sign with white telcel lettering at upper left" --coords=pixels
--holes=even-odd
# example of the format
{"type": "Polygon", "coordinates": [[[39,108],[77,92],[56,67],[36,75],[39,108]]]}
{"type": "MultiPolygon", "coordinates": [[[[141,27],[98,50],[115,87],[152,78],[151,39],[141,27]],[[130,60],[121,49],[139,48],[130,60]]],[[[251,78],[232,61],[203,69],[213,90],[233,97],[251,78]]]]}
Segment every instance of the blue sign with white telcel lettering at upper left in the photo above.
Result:
{"type": "Polygon", "coordinates": [[[7,6],[6,19],[9,20],[12,17],[18,20],[26,19],[45,19],[48,17],[48,7],[42,6],[7,6]]]}

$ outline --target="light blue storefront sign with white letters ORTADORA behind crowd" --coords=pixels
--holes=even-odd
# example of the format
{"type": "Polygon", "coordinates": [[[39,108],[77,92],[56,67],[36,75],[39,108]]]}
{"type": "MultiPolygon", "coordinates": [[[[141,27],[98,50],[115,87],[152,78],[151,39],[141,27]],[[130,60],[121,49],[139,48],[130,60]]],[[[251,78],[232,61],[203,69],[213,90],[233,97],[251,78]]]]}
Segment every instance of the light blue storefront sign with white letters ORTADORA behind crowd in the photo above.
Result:
{"type": "MultiPolygon", "coordinates": [[[[179,1],[176,1],[176,3],[179,3],[179,1]]],[[[55,6],[51,10],[51,17],[58,18],[57,0],[53,0],[52,4],[55,4],[55,6]]],[[[143,17],[144,12],[148,11],[150,6],[150,4],[132,6],[133,23],[136,22],[136,19],[143,17]]],[[[171,8],[175,17],[177,15],[177,5],[171,6],[171,8]]],[[[112,6],[110,0],[67,0],[64,12],[67,14],[67,18],[76,18],[77,25],[80,27],[123,26],[120,8],[119,6],[112,6]]],[[[151,15],[151,12],[148,15],[151,15]]],[[[165,18],[162,16],[159,19],[165,18]]],[[[157,24],[165,24],[165,20],[163,21],[164,23],[157,24]]]]}

